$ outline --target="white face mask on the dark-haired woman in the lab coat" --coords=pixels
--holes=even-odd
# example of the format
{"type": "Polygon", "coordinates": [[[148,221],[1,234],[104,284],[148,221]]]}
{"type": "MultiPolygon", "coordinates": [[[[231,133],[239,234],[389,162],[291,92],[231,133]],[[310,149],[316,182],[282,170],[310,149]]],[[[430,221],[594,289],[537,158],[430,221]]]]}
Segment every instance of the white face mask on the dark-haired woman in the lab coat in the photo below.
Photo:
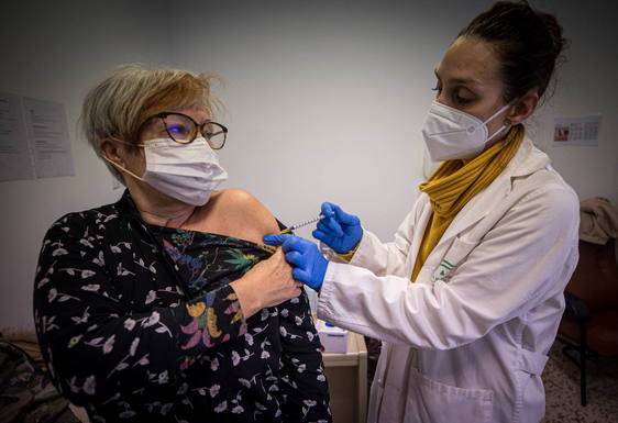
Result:
{"type": "Polygon", "coordinates": [[[433,162],[475,156],[485,148],[490,140],[509,126],[508,124],[503,125],[488,137],[487,123],[510,105],[506,104],[483,122],[472,114],[434,100],[422,126],[422,137],[429,156],[433,162]]]}

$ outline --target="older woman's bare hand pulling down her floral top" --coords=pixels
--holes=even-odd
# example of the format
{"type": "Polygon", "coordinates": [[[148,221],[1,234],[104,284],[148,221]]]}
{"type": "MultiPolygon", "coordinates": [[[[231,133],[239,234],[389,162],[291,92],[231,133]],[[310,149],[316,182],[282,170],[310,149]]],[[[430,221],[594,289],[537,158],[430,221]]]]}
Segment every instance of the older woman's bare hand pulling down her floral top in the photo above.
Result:
{"type": "Polygon", "coordinates": [[[260,310],[300,296],[302,282],[294,280],[280,248],[230,286],[239,296],[245,319],[260,310]]]}

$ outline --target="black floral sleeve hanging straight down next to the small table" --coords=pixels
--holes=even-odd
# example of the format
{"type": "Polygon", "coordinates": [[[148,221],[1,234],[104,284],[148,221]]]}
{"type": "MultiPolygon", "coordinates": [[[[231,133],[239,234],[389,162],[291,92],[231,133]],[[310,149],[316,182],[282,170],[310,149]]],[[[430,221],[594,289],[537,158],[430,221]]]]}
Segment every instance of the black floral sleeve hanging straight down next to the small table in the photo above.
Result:
{"type": "Polygon", "coordinates": [[[329,387],[309,299],[302,293],[278,305],[286,421],[331,422],[329,387]]]}

